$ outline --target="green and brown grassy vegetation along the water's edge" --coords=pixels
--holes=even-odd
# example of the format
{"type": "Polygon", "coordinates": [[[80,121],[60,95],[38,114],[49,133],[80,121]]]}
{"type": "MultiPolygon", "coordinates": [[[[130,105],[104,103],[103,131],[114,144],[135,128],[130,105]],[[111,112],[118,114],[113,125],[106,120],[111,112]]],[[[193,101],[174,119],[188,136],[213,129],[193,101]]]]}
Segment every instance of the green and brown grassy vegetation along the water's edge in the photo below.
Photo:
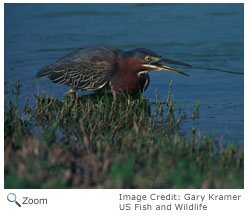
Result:
{"type": "Polygon", "coordinates": [[[108,94],[35,100],[24,112],[5,107],[5,188],[243,188],[243,150],[195,129],[180,135],[186,115],[170,91],[154,103],[108,94]]]}

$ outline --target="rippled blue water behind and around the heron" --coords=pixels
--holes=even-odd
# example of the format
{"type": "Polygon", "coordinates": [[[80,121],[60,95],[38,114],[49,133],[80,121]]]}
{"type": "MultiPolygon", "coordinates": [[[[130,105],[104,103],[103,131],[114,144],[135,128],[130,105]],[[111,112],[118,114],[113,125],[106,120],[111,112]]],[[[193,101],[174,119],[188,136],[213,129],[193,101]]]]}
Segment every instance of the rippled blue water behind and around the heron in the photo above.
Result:
{"type": "Polygon", "coordinates": [[[229,136],[243,142],[243,4],[5,4],[5,104],[10,83],[20,79],[21,103],[46,90],[69,90],[36,80],[39,69],[87,45],[124,50],[151,49],[193,68],[173,66],[191,77],[151,72],[145,97],[166,100],[173,80],[174,101],[186,110],[182,130],[229,136]],[[200,104],[199,118],[191,115],[200,104]]]}

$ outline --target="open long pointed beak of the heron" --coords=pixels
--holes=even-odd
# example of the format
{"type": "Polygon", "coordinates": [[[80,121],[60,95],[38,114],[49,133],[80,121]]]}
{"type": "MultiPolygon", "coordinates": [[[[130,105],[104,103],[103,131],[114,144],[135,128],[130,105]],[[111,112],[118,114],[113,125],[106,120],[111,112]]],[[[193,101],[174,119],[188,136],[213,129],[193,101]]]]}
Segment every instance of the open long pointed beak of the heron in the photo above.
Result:
{"type": "Polygon", "coordinates": [[[151,63],[149,65],[145,65],[144,64],[144,66],[150,68],[151,70],[166,70],[166,71],[172,71],[172,72],[184,75],[184,76],[189,76],[186,73],[183,73],[181,71],[178,71],[178,70],[176,70],[174,68],[171,68],[169,66],[166,66],[166,65],[163,65],[163,64],[160,64],[160,63],[169,63],[169,64],[175,64],[175,65],[182,65],[182,66],[192,67],[191,65],[188,65],[186,63],[183,63],[183,62],[180,62],[180,61],[174,61],[174,60],[167,59],[167,58],[159,58],[157,61],[155,61],[155,62],[153,62],[153,63],[151,63]]]}

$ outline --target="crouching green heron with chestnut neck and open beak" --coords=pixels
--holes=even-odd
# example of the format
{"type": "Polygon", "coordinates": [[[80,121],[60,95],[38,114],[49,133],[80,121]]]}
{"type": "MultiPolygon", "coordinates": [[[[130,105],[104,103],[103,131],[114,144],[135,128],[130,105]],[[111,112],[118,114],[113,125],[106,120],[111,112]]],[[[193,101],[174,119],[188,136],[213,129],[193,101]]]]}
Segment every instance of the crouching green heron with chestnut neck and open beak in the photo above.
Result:
{"type": "Polygon", "coordinates": [[[188,76],[160,63],[191,67],[180,61],[163,58],[145,48],[125,52],[115,47],[89,46],[41,69],[36,76],[71,86],[70,93],[76,90],[107,89],[115,93],[129,94],[146,90],[150,81],[149,71],[167,70],[188,76]]]}

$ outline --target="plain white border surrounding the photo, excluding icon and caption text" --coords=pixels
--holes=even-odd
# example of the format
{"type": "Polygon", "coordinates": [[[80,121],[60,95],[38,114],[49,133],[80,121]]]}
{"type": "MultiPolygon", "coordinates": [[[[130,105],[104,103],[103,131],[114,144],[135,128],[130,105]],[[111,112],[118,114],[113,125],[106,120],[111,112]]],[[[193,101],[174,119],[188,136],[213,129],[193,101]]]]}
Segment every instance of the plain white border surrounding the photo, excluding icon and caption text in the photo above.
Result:
{"type": "MultiPolygon", "coordinates": [[[[4,3],[117,3],[118,1],[34,1],[34,0],[26,0],[26,1],[14,1],[14,0],[4,0],[1,1],[1,83],[0,85],[2,96],[4,92],[4,3]]],[[[152,1],[119,1],[119,3],[152,3],[152,1]]],[[[4,189],[4,100],[2,97],[1,100],[1,137],[2,137],[2,151],[0,154],[0,167],[1,167],[1,178],[0,178],[0,214],[1,215],[70,215],[70,214],[81,214],[81,215],[249,215],[249,130],[247,128],[247,123],[249,122],[249,87],[247,85],[247,80],[249,80],[249,5],[250,3],[243,0],[197,0],[197,1],[154,1],[153,3],[245,3],[244,5],[244,87],[245,87],[245,100],[244,100],[244,148],[245,148],[245,189],[244,190],[5,190],[4,189]],[[248,25],[246,25],[248,23],[248,25]],[[248,60],[248,61],[247,61],[248,60]],[[30,206],[22,206],[22,208],[18,208],[14,203],[9,203],[6,200],[6,196],[9,192],[15,192],[17,194],[17,200],[20,201],[22,196],[29,197],[46,197],[48,199],[48,205],[46,206],[38,206],[38,205],[30,205],[30,206]],[[242,200],[240,202],[209,202],[209,211],[190,211],[190,212],[121,212],[118,210],[118,195],[119,193],[123,194],[147,194],[150,193],[158,193],[158,194],[168,194],[168,193],[176,193],[176,194],[206,194],[209,193],[217,193],[217,194],[241,194],[242,200]]]]}

